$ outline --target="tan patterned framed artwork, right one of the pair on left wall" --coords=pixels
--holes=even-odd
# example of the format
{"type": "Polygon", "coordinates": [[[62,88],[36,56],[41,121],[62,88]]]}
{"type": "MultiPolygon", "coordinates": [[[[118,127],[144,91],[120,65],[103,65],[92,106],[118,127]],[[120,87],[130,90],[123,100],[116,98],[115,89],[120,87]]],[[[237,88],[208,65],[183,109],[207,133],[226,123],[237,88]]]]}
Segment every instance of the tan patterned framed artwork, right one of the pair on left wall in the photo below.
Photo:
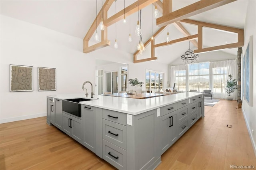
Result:
{"type": "Polygon", "coordinates": [[[56,68],[38,67],[38,91],[56,91],[56,68]]]}

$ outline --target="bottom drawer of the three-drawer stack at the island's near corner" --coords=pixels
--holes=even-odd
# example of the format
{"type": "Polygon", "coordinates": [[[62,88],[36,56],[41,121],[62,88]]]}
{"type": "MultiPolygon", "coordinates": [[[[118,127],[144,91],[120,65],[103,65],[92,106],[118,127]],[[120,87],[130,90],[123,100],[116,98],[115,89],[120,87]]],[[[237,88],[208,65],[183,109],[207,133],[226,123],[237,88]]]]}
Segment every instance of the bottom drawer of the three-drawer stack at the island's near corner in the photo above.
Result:
{"type": "Polygon", "coordinates": [[[126,150],[103,139],[103,159],[114,167],[126,169],[126,150]]]}

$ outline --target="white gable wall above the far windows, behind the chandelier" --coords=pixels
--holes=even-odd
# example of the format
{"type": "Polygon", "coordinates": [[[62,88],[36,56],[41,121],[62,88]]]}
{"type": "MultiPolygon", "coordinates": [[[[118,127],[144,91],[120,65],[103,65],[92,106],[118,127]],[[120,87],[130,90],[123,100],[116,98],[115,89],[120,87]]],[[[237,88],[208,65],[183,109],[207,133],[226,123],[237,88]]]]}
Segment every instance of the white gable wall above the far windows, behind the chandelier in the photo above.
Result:
{"type": "MultiPolygon", "coordinates": [[[[218,61],[218,60],[227,60],[227,59],[236,59],[236,55],[232,55],[230,53],[225,53],[223,51],[212,51],[208,53],[200,53],[198,60],[196,63],[202,63],[206,61],[218,61]]],[[[176,59],[174,62],[170,63],[170,65],[182,65],[182,60],[176,59]]]]}

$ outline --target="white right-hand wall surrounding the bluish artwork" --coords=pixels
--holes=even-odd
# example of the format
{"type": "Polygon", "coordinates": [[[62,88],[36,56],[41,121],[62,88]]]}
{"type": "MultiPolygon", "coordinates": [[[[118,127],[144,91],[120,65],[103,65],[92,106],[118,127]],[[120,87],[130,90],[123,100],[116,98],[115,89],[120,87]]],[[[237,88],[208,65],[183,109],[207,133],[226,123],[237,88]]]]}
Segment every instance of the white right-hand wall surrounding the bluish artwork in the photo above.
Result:
{"type": "MultiPolygon", "coordinates": [[[[246,120],[246,125],[254,146],[254,153],[256,155],[256,1],[248,1],[248,8],[246,11],[246,22],[244,26],[244,47],[243,51],[246,51],[246,47],[249,42],[249,37],[252,36],[252,107],[243,99],[242,111],[246,120]],[[252,134],[254,130],[254,134],[252,134]]],[[[242,71],[241,71],[242,72],[242,71]]],[[[243,77],[241,75],[241,80],[243,77]]],[[[243,85],[243,82],[241,82],[243,85]]],[[[242,87],[243,89],[243,87],[242,87]]]]}

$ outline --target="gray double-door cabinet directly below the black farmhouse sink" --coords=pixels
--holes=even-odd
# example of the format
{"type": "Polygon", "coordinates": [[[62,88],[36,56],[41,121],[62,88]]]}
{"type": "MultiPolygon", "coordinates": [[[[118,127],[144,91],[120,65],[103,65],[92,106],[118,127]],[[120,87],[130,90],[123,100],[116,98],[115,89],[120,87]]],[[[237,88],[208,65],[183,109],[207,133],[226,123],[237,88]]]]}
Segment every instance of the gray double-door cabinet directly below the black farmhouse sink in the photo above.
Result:
{"type": "Polygon", "coordinates": [[[67,113],[62,113],[63,117],[63,131],[74,138],[76,141],[82,143],[82,120],[67,113]]]}

